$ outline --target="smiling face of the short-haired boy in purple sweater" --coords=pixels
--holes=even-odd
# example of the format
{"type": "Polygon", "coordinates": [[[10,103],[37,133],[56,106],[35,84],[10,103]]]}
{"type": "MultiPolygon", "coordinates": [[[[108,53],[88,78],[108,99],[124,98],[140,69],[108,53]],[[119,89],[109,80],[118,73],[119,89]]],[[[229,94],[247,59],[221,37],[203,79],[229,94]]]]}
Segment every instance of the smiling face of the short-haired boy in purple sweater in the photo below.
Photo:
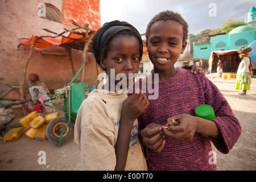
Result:
{"type": "Polygon", "coordinates": [[[183,26],[173,20],[152,24],[146,46],[154,69],[170,70],[187,46],[183,43],[183,26]]]}

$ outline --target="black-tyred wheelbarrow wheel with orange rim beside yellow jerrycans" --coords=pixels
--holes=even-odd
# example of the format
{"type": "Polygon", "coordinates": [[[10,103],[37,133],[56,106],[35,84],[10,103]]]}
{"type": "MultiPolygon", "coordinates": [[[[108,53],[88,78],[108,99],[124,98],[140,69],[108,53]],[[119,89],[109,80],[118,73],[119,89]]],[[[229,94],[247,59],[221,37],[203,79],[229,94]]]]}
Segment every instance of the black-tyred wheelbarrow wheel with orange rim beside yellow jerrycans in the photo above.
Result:
{"type": "MultiPolygon", "coordinates": [[[[65,117],[59,117],[53,119],[51,122],[49,122],[47,128],[46,128],[46,136],[49,140],[51,140],[54,143],[59,143],[60,141],[60,135],[62,131],[65,129],[65,126],[68,123],[68,118],[65,117]]],[[[74,132],[74,124],[73,122],[69,122],[69,125],[67,129],[63,133],[63,143],[67,142],[73,135],[74,132]]]]}

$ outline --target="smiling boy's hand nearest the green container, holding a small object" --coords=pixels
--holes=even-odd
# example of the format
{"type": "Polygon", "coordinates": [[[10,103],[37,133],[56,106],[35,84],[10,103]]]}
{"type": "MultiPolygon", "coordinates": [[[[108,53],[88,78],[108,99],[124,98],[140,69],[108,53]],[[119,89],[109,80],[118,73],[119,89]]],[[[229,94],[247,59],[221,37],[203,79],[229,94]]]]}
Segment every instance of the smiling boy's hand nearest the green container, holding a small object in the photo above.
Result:
{"type": "Polygon", "coordinates": [[[192,140],[197,131],[197,120],[196,117],[189,114],[177,114],[168,118],[165,126],[168,126],[168,129],[164,129],[168,137],[174,138],[179,142],[187,142],[192,140]],[[170,126],[172,119],[180,124],[178,126],[170,126]]]}

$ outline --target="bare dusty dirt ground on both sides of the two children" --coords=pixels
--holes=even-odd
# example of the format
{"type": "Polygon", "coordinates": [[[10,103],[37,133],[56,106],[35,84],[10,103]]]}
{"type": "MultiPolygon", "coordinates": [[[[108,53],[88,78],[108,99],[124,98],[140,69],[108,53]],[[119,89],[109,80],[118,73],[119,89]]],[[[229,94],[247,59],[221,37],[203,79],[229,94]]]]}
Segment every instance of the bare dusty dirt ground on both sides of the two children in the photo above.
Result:
{"type": "MultiPolygon", "coordinates": [[[[225,73],[228,75],[228,73],[225,73]]],[[[216,77],[216,73],[207,75],[220,89],[232,107],[234,115],[242,126],[242,135],[229,154],[221,154],[214,148],[217,156],[217,170],[256,170],[256,78],[252,78],[251,90],[241,96],[241,90],[235,90],[236,78],[216,77]]],[[[11,125],[22,118],[22,110],[13,110],[11,125]]],[[[0,171],[10,170],[80,170],[80,152],[73,141],[58,147],[49,140],[38,140],[23,136],[11,142],[0,140],[0,171]],[[45,152],[46,164],[40,164],[45,152]]]]}

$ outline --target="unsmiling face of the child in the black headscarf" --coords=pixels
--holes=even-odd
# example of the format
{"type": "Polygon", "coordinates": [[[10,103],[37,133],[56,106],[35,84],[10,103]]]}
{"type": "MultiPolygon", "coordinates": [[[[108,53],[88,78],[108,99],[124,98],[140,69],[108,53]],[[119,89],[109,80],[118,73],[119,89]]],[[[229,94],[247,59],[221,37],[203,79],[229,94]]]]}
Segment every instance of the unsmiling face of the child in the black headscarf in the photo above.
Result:
{"type": "MultiPolygon", "coordinates": [[[[110,43],[109,51],[106,54],[106,58],[101,60],[101,65],[106,70],[110,82],[114,82],[117,85],[122,80],[119,80],[117,75],[123,73],[126,76],[127,86],[130,86],[129,73],[135,74],[139,71],[138,39],[131,35],[118,35],[110,43]],[[112,72],[110,72],[110,69],[112,69],[112,72]],[[118,79],[116,80],[115,78],[118,79]]],[[[132,79],[130,83],[133,82],[134,79],[130,79],[132,79]]]]}

